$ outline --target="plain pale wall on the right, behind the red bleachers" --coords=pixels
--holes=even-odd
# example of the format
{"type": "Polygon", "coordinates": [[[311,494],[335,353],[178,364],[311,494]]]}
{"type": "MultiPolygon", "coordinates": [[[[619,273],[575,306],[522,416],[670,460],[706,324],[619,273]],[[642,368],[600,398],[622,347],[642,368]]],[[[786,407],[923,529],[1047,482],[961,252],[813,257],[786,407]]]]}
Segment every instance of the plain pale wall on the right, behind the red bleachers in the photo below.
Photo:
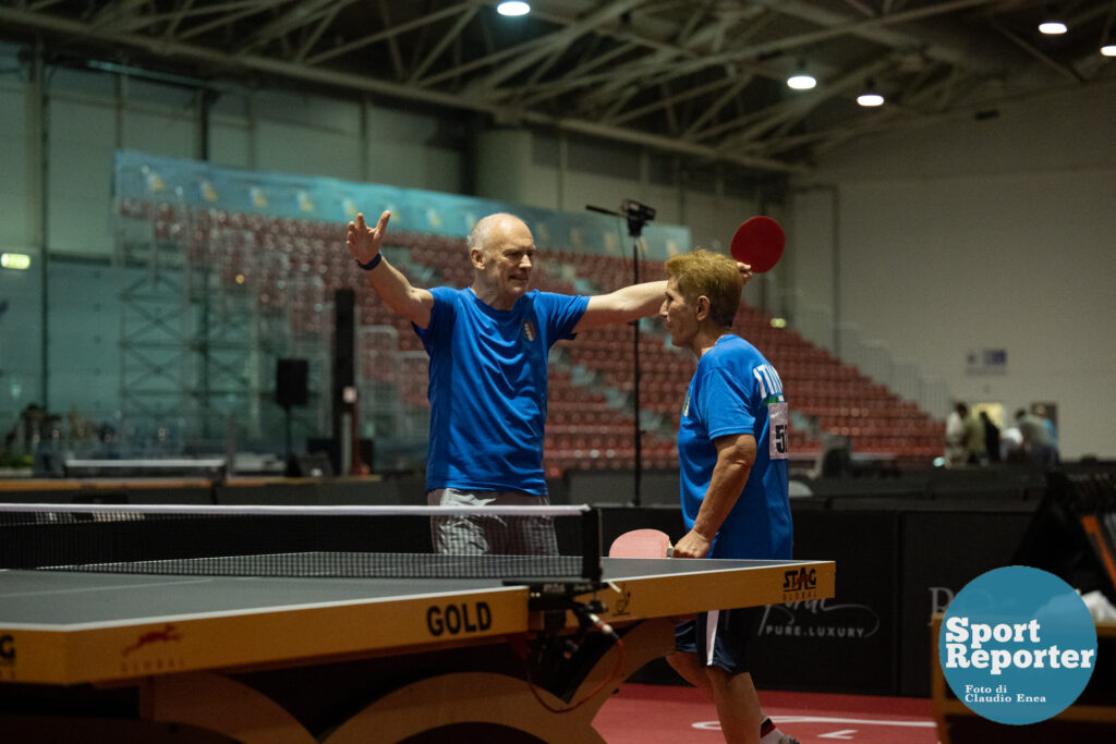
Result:
{"type": "MultiPolygon", "coordinates": [[[[839,193],[839,319],[960,399],[1009,414],[1056,403],[1068,457],[1116,456],[1114,93],[854,144],[810,178],[839,193]],[[982,349],[1006,349],[1007,370],[971,374],[966,354],[982,349]]],[[[818,258],[796,280],[826,297],[833,223],[809,209],[819,193],[796,200],[811,243],[799,249],[818,258]]]]}

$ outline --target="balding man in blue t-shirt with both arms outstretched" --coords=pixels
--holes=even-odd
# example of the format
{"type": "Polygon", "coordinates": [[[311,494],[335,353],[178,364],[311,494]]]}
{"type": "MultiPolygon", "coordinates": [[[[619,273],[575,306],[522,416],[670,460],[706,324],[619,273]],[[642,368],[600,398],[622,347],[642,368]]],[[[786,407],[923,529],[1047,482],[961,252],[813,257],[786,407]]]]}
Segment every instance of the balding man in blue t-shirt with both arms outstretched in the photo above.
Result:
{"type": "MultiPolygon", "coordinates": [[[[430,355],[427,502],[432,505],[545,505],[543,425],[550,347],[578,332],[652,316],[665,281],[597,297],[528,291],[537,249],[527,224],[498,213],[480,220],[466,245],[466,289],[413,287],[379,252],[389,212],[375,228],[348,225],[348,250],[368,284],[414,323],[430,355]]],[[[745,278],[750,276],[741,265],[745,278]]],[[[445,553],[555,554],[549,519],[437,518],[445,553]]]]}

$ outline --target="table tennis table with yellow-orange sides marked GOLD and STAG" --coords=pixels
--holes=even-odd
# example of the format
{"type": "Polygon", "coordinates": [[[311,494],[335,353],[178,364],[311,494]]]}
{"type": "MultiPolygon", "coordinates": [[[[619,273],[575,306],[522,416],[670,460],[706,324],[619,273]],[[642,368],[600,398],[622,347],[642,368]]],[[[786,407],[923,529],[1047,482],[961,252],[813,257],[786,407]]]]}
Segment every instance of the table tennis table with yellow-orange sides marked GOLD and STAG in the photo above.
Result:
{"type": "Polygon", "coordinates": [[[0,732],[600,742],[594,715],[677,618],[835,591],[830,561],[602,561],[591,586],[0,570],[0,732]]]}

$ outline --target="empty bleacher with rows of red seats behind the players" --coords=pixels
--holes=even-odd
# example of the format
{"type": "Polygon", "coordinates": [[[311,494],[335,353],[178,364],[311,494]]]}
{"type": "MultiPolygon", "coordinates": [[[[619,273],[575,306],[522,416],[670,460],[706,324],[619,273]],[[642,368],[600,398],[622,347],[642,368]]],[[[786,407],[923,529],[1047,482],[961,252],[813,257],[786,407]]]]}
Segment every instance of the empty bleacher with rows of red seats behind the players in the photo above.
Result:
{"type": "MultiPolygon", "coordinates": [[[[391,398],[403,426],[425,421],[425,352],[410,322],[398,318],[368,288],[336,223],[267,219],[223,210],[189,210],[122,200],[124,226],[152,250],[177,252],[184,264],[204,268],[215,291],[247,291],[264,311],[281,316],[290,332],[328,338],[331,300],[338,289],[356,291],[360,385],[374,398],[391,398]]],[[[465,241],[393,231],[385,253],[420,286],[465,287],[472,280],[465,241]]],[[[662,261],[641,261],[641,280],[663,274],[662,261]]],[[[627,258],[542,250],[535,287],[548,291],[600,293],[634,278],[627,258]]],[[[213,290],[213,287],[210,287],[213,290]]],[[[642,321],[639,410],[645,468],[676,463],[674,436],[693,356],[671,346],[656,319],[642,321]]],[[[764,312],[741,305],[733,330],[756,345],[779,370],[795,416],[790,446],[811,461],[829,435],[846,437],[853,452],[898,466],[927,466],[940,454],[943,423],[901,399],[855,367],[788,328],[775,328],[764,312]]],[[[625,470],[635,464],[634,337],[628,326],[596,329],[551,354],[546,471],[625,470]]],[[[420,435],[408,427],[406,434],[420,435]]],[[[377,432],[377,436],[381,436],[377,432]]]]}

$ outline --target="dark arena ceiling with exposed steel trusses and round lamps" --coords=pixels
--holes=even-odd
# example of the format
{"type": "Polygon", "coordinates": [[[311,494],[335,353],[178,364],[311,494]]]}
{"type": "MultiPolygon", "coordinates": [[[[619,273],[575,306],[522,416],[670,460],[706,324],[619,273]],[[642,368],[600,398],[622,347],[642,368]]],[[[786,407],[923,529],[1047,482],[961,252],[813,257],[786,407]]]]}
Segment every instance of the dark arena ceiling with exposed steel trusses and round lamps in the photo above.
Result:
{"type": "Polygon", "coordinates": [[[472,112],[768,172],[1074,88],[1114,95],[1116,0],[2,0],[47,60],[472,112]],[[1058,17],[1061,36],[1038,25],[1058,17]],[[798,68],[818,80],[791,90],[798,68]],[[873,87],[886,98],[863,108],[873,87]]]}

